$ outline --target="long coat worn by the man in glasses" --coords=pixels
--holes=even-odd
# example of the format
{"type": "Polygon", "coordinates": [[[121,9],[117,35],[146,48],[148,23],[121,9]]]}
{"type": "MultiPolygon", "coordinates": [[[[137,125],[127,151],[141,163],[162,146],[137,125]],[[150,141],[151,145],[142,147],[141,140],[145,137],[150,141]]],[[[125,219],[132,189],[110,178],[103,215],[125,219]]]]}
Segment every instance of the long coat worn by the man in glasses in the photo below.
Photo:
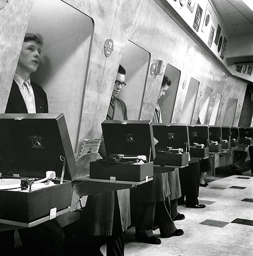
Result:
{"type": "MultiPolygon", "coordinates": [[[[109,106],[106,119],[127,120],[125,103],[117,98],[114,102],[114,111],[109,106]]],[[[104,143],[101,143],[99,153],[105,157],[104,143]]],[[[88,196],[86,206],[81,212],[81,222],[84,231],[91,236],[111,236],[113,225],[125,231],[130,226],[129,189],[88,196]],[[117,214],[115,207],[119,207],[120,214],[117,214]]]]}

